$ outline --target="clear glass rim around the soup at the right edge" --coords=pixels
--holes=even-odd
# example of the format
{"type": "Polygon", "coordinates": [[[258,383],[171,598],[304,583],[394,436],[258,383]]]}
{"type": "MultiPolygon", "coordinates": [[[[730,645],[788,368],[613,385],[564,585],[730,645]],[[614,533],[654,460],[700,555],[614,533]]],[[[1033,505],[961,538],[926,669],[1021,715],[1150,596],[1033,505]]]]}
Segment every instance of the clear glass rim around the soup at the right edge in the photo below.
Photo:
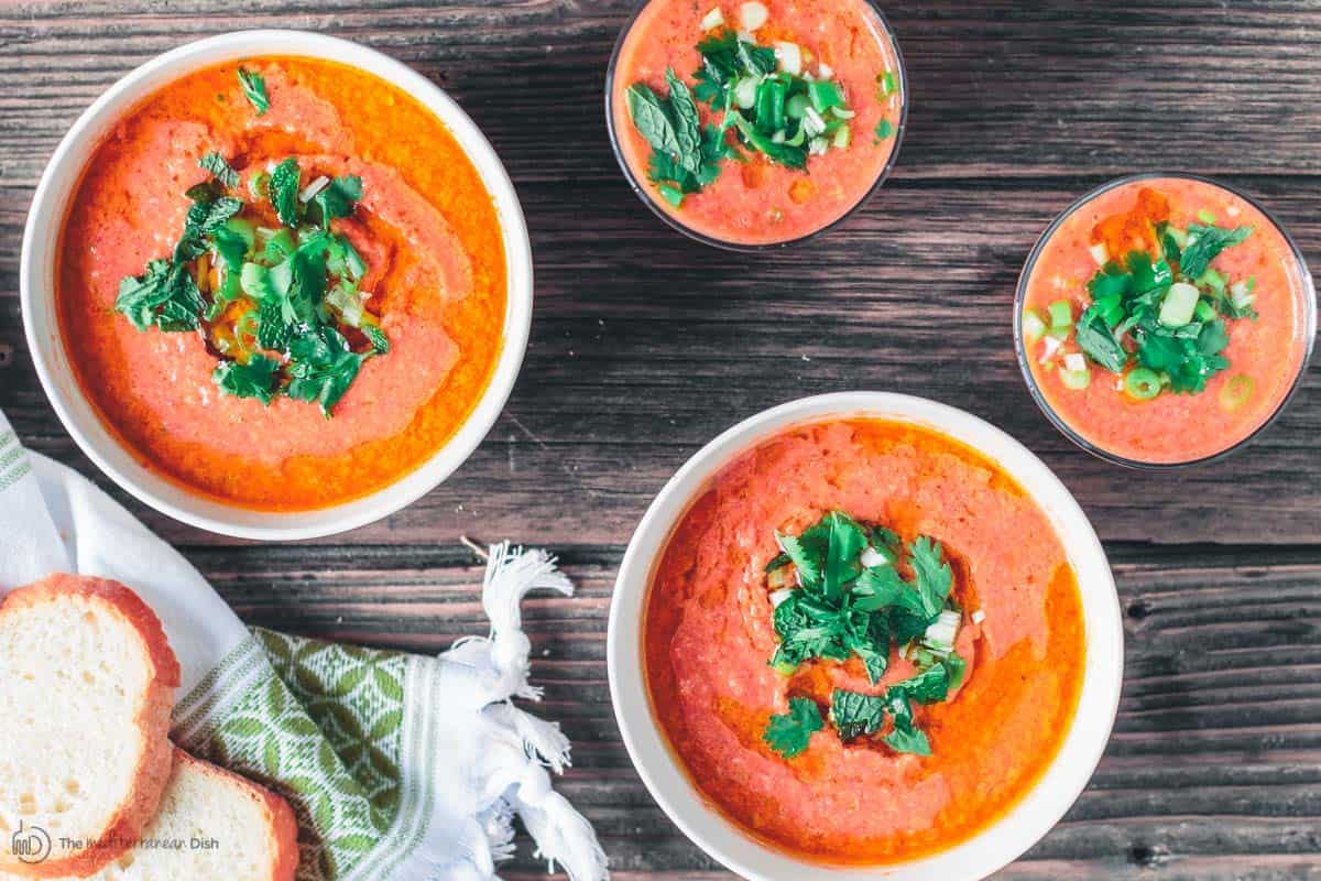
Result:
{"type": "Polygon", "coordinates": [[[1112,462],[1115,465],[1123,465],[1124,468],[1129,468],[1133,470],[1143,470],[1143,472],[1169,472],[1184,468],[1194,468],[1197,465],[1206,465],[1210,462],[1217,462],[1222,458],[1227,458],[1229,456],[1232,456],[1234,453],[1238,453],[1250,446],[1272,424],[1275,424],[1275,420],[1280,417],[1280,413],[1284,412],[1284,409],[1293,400],[1295,395],[1297,395],[1299,390],[1303,387],[1303,380],[1306,378],[1308,374],[1308,363],[1312,361],[1312,354],[1313,350],[1316,349],[1316,335],[1317,335],[1316,284],[1312,279],[1312,272],[1308,269],[1306,259],[1303,256],[1303,250],[1299,247],[1299,243],[1293,239],[1292,235],[1289,235],[1289,231],[1284,227],[1283,223],[1280,223],[1280,219],[1275,217],[1275,214],[1272,214],[1271,210],[1267,209],[1266,205],[1259,202],[1254,195],[1240,190],[1239,188],[1231,184],[1227,184],[1226,181],[1214,177],[1207,177],[1205,174],[1194,174],[1192,172],[1155,170],[1155,172],[1139,172],[1135,174],[1123,174],[1120,177],[1106,181],[1104,184],[1100,184],[1099,186],[1095,186],[1091,190],[1075,198],[1069,205],[1069,207],[1066,207],[1063,211],[1055,215],[1055,218],[1050,222],[1050,225],[1045,229],[1045,231],[1037,238],[1036,244],[1032,246],[1032,251],[1028,252],[1028,259],[1024,262],[1022,269],[1018,272],[1018,284],[1015,288],[1013,293],[1013,350],[1015,350],[1015,357],[1018,361],[1018,370],[1022,372],[1022,379],[1028,384],[1028,394],[1032,395],[1032,400],[1036,402],[1037,407],[1046,416],[1050,424],[1054,425],[1061,435],[1073,441],[1078,448],[1107,462],[1112,462]],[[1248,432],[1246,436],[1243,436],[1230,446],[1226,446],[1225,449],[1211,453],[1209,456],[1181,460],[1174,462],[1147,462],[1137,458],[1128,458],[1127,456],[1120,456],[1118,453],[1114,453],[1106,449],[1104,446],[1083,437],[1073,425],[1070,425],[1063,419],[1063,416],[1055,412],[1055,408],[1050,405],[1049,400],[1046,400],[1045,394],[1041,391],[1040,383],[1037,383],[1037,378],[1032,372],[1032,365],[1029,363],[1028,359],[1026,342],[1024,341],[1022,337],[1022,310],[1024,310],[1024,304],[1026,302],[1028,299],[1028,283],[1032,280],[1032,272],[1033,269],[1036,269],[1037,260],[1045,251],[1046,244],[1050,242],[1050,238],[1059,230],[1061,226],[1063,226],[1063,223],[1070,217],[1074,215],[1074,213],[1086,207],[1092,199],[1098,198],[1099,195],[1108,193],[1110,190],[1119,189],[1120,186],[1125,186],[1128,184],[1135,184],[1139,181],[1152,181],[1152,180],[1184,180],[1184,181],[1197,181],[1199,184],[1207,184],[1217,189],[1222,189],[1232,195],[1236,195],[1238,198],[1251,205],[1254,209],[1262,213],[1262,217],[1264,217],[1271,226],[1276,229],[1276,231],[1284,239],[1285,244],[1289,247],[1289,251],[1293,254],[1293,259],[1299,268],[1299,279],[1303,284],[1303,291],[1300,292],[1303,295],[1303,304],[1304,304],[1303,330],[1305,334],[1303,361],[1299,363],[1299,371],[1293,376],[1293,382],[1289,384],[1289,390],[1280,399],[1280,403],[1275,407],[1271,415],[1262,421],[1260,425],[1254,428],[1251,432],[1248,432]]]}

